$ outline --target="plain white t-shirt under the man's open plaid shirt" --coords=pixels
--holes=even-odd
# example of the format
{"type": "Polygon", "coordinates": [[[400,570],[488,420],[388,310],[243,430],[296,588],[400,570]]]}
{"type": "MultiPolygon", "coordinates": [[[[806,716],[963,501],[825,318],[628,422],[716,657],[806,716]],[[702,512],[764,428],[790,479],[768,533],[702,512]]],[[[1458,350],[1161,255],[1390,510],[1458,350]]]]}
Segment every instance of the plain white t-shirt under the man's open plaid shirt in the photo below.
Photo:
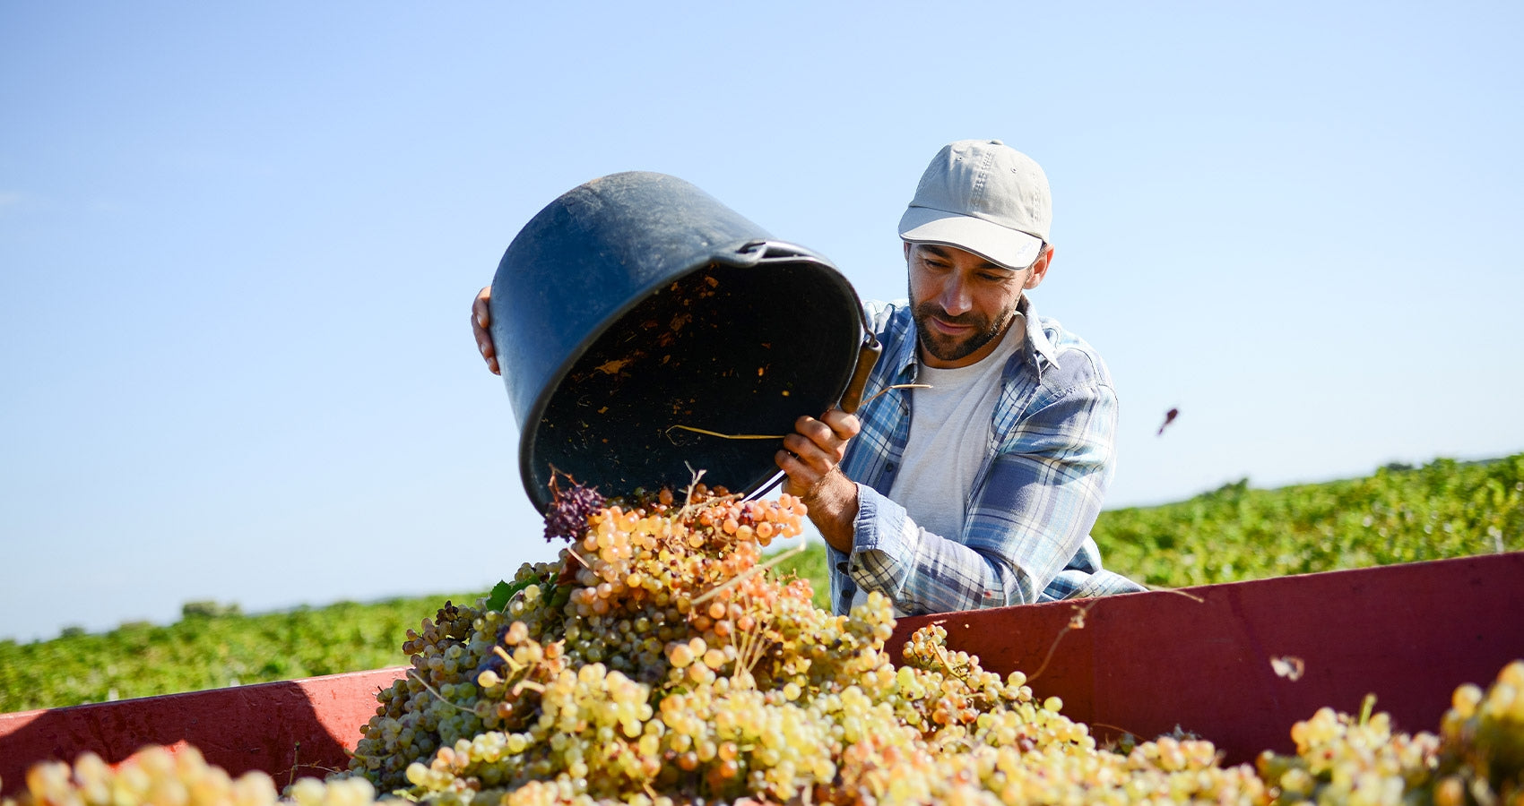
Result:
{"type": "MultiPolygon", "coordinates": [[[[910,390],[910,437],[888,500],[925,532],[948,539],[963,535],[963,507],[985,463],[1006,361],[1024,346],[1026,332],[1018,312],[995,352],[975,364],[936,369],[917,361],[916,382],[931,389],[910,390]]],[[[852,606],[866,600],[858,588],[852,606]]],[[[896,608],[895,616],[904,614],[896,608]]]]}

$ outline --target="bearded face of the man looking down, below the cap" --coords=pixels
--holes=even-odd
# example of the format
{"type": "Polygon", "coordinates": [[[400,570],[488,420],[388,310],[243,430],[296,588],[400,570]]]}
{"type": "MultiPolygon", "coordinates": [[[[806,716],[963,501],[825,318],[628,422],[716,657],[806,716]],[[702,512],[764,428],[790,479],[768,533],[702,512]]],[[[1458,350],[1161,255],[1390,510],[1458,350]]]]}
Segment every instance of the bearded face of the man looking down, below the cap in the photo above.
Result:
{"type": "Polygon", "coordinates": [[[995,352],[1021,303],[1047,271],[1049,251],[1023,270],[954,247],[905,244],[910,309],[930,367],[966,367],[995,352]]]}

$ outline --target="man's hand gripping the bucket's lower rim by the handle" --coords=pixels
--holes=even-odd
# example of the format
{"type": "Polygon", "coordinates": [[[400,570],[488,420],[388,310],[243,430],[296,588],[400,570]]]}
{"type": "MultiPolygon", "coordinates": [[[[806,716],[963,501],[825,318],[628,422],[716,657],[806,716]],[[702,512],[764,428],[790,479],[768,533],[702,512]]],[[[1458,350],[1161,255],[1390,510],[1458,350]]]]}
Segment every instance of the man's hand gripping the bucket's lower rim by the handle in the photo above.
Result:
{"type": "Polygon", "coordinates": [[[815,417],[799,417],[794,433],[783,437],[777,466],[788,474],[783,492],[797,495],[809,507],[809,520],[838,552],[852,552],[856,520],[856,485],[841,475],[838,465],[847,440],[863,428],[856,414],[832,408],[815,417]]]}

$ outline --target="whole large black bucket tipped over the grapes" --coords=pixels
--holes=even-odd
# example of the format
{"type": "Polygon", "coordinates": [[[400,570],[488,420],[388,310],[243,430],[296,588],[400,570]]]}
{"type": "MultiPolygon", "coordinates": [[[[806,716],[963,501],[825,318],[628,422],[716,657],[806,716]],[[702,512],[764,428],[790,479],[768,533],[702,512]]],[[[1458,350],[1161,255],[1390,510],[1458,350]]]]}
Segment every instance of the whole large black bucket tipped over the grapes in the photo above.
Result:
{"type": "Polygon", "coordinates": [[[503,253],[491,308],[541,512],[558,477],[625,495],[681,489],[700,466],[733,491],[765,488],[780,439],[718,436],[786,434],[838,401],[852,411],[878,355],[831,261],[645,171],[539,210],[503,253]]]}

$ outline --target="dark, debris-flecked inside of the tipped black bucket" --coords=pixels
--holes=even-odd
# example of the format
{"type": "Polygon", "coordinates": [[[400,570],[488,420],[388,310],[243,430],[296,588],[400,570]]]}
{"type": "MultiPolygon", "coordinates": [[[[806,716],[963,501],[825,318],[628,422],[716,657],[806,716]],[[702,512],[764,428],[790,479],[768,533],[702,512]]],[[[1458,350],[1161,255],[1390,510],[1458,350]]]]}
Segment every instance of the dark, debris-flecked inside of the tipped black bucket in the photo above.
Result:
{"type": "Polygon", "coordinates": [[[759,486],[794,421],[846,389],[860,321],[846,279],[811,259],[709,264],[664,282],[553,384],[523,446],[530,498],[547,507],[556,472],[607,497],[678,491],[696,471],[732,492],[759,486]]]}

